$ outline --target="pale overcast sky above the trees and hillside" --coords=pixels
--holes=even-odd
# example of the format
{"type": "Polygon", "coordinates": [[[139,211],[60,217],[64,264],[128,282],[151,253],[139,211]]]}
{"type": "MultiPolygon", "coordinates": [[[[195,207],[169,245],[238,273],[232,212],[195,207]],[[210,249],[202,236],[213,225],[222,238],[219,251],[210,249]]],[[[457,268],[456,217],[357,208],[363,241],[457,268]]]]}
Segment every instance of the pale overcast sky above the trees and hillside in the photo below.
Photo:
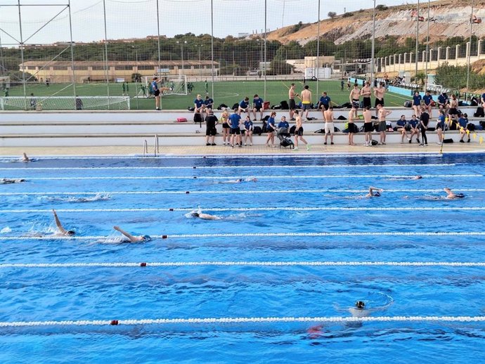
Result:
{"type": "MultiPolygon", "coordinates": [[[[263,32],[264,0],[212,0],[214,36],[238,36],[263,32]]],[[[416,4],[418,1],[376,0],[380,5],[416,4]]],[[[427,1],[421,1],[427,3],[427,1]]],[[[4,46],[20,42],[50,44],[70,41],[69,0],[0,0],[0,41],[4,46]],[[35,6],[32,6],[35,5],[35,6]]],[[[357,11],[371,8],[373,0],[320,1],[320,18],[328,12],[357,11]]],[[[143,38],[157,35],[157,4],[160,34],[173,37],[188,32],[211,33],[211,0],[70,0],[73,41],[143,38]]],[[[318,0],[266,0],[266,25],[271,30],[299,21],[318,20],[318,0]]]]}

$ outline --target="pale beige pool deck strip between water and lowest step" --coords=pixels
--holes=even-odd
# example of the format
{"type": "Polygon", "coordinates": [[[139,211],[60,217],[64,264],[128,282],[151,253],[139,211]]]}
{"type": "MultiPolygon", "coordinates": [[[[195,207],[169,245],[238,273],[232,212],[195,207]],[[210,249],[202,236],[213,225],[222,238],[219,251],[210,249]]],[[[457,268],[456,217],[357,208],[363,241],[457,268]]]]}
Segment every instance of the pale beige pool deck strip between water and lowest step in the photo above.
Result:
{"type": "MultiPolygon", "coordinates": [[[[311,145],[310,151],[307,151],[304,145],[299,150],[290,150],[284,148],[269,148],[265,145],[253,145],[243,148],[229,148],[224,145],[207,146],[207,145],[186,145],[186,146],[160,146],[160,153],[157,155],[325,155],[325,154],[351,154],[351,153],[437,153],[441,145],[436,143],[429,144],[427,147],[420,147],[417,143],[413,144],[388,144],[373,147],[363,145],[311,145]]],[[[22,147],[22,148],[0,148],[2,156],[22,155],[26,152],[30,157],[53,156],[53,155],[142,155],[143,150],[140,146],[108,146],[108,147],[22,147]]],[[[470,153],[485,152],[485,143],[479,144],[477,141],[472,143],[451,143],[443,145],[444,153],[470,153]]],[[[148,156],[153,155],[153,147],[149,149],[148,156]]]]}

